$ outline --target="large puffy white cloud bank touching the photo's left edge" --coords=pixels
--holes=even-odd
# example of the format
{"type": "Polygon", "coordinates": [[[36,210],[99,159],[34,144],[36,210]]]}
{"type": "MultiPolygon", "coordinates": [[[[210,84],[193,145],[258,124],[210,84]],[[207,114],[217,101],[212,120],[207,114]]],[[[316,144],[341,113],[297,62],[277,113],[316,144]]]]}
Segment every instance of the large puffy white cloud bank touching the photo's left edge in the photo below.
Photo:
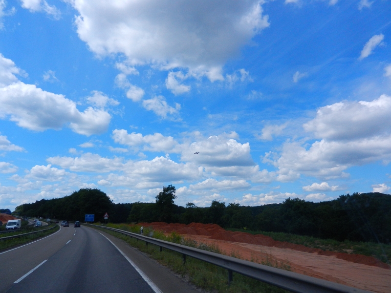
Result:
{"type": "Polygon", "coordinates": [[[0,119],[35,131],[69,126],[73,131],[92,135],[107,130],[111,116],[102,109],[88,107],[84,112],[64,95],[47,92],[34,84],[20,82],[21,70],[0,55],[0,119]]]}

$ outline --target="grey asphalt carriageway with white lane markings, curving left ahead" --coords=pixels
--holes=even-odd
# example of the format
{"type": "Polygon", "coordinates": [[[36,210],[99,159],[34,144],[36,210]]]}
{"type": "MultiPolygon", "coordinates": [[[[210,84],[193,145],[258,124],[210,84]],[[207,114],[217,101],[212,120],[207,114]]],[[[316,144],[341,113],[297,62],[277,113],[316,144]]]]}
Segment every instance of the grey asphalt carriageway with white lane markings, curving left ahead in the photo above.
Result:
{"type": "Polygon", "coordinates": [[[87,227],[62,227],[0,252],[0,292],[195,292],[125,242],[87,227]]]}

